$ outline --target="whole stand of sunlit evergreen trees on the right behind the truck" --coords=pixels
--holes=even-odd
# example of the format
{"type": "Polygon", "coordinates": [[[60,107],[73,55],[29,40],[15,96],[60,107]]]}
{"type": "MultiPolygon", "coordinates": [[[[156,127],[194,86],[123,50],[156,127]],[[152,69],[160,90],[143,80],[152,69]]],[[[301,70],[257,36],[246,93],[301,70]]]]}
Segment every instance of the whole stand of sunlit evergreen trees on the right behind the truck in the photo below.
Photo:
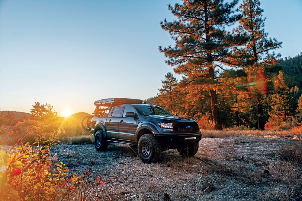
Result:
{"type": "Polygon", "coordinates": [[[220,130],[299,125],[302,53],[284,59],[275,54],[281,42],[265,32],[258,0],[188,0],[169,10],[176,20],[161,26],[175,44],[159,50],[182,79],[168,73],[157,96],[146,100],[149,104],[209,121],[220,130]],[[226,27],[235,28],[227,32],[226,27]]]}

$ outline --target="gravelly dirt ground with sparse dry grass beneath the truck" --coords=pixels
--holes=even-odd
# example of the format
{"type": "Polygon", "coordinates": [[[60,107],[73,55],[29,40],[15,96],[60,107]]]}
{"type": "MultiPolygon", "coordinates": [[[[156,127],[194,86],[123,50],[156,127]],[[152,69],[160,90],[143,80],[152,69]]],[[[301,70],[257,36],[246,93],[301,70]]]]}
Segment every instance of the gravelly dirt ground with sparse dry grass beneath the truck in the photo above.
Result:
{"type": "Polygon", "coordinates": [[[94,161],[89,185],[95,186],[100,176],[104,186],[98,185],[93,200],[163,200],[165,192],[170,200],[293,200],[301,195],[301,169],[281,162],[278,151],[296,141],[205,138],[196,157],[167,150],[156,164],[144,164],[135,149],[118,143],[110,144],[107,152],[96,151],[93,144],[61,144],[51,152],[53,162],[69,167],[69,176],[83,174],[94,161]]]}

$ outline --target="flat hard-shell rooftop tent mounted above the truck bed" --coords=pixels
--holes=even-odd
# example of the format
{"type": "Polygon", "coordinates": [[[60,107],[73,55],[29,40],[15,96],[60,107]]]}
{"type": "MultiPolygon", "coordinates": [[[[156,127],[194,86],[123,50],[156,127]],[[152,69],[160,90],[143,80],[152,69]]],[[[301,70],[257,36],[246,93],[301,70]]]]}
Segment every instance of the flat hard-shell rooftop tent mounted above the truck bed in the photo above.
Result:
{"type": "Polygon", "coordinates": [[[114,105],[123,104],[142,104],[143,100],[140,99],[125,99],[125,98],[109,98],[95,101],[95,106],[111,107],[114,105]]]}

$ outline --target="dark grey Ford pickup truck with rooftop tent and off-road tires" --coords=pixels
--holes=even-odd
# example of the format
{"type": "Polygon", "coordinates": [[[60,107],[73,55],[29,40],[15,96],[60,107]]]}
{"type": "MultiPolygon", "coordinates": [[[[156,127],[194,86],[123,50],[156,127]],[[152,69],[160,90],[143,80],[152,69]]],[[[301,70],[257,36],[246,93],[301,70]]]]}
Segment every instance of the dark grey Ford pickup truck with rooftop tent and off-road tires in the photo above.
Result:
{"type": "Polygon", "coordinates": [[[197,153],[201,140],[197,121],[142,102],[124,98],[95,101],[90,127],[98,151],[106,151],[108,143],[137,146],[145,163],[158,161],[161,152],[167,149],[177,149],[183,156],[197,153]]]}

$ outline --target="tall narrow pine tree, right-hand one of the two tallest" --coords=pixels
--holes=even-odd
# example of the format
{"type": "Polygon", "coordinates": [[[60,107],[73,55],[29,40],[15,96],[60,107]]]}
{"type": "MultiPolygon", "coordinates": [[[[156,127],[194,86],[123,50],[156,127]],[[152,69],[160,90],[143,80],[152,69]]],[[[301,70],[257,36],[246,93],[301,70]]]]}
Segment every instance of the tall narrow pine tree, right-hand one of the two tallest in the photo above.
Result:
{"type": "MultiPolygon", "coordinates": [[[[262,17],[262,8],[258,0],[243,0],[239,6],[242,17],[239,20],[239,27],[234,31],[246,37],[247,42],[243,48],[237,46],[234,48],[237,56],[240,58],[241,65],[248,73],[247,82],[255,83],[255,96],[258,113],[258,129],[264,130],[263,119],[263,100],[262,96],[266,94],[266,79],[264,72],[267,68],[265,64],[275,64],[276,55],[273,50],[281,47],[281,42],[277,39],[269,38],[264,29],[265,18],[262,17]]],[[[240,62],[238,62],[240,63],[240,62]]],[[[251,86],[249,86],[251,87],[251,86]]]]}

